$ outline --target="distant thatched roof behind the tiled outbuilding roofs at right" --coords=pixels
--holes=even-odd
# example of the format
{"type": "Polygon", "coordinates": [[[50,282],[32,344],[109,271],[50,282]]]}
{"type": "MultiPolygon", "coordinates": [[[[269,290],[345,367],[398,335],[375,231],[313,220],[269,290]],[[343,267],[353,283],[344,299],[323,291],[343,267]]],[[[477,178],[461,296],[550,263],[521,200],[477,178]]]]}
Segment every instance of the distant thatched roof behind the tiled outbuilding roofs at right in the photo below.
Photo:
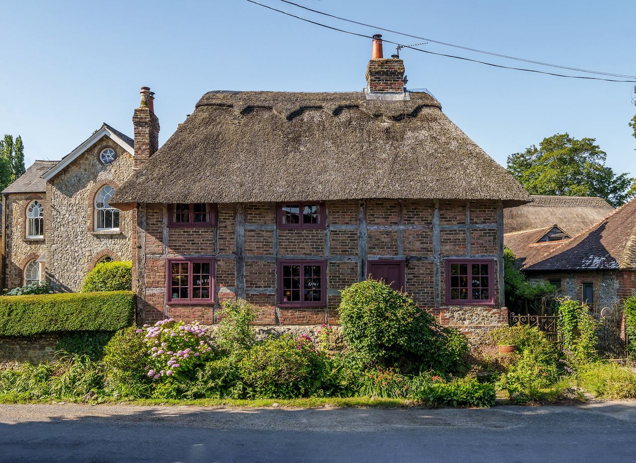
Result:
{"type": "Polygon", "coordinates": [[[532,203],[504,210],[504,232],[536,230],[558,225],[576,236],[596,224],[614,208],[602,198],[532,195],[532,203]]]}

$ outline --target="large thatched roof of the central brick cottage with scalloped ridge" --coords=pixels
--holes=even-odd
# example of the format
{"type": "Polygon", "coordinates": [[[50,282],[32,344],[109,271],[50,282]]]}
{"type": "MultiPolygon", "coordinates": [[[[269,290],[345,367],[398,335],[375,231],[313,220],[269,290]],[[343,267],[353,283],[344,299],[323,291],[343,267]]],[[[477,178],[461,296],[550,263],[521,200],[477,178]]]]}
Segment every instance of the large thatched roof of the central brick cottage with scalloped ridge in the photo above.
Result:
{"type": "Polygon", "coordinates": [[[529,201],[428,93],[211,91],[111,204],[440,198],[529,201]]]}

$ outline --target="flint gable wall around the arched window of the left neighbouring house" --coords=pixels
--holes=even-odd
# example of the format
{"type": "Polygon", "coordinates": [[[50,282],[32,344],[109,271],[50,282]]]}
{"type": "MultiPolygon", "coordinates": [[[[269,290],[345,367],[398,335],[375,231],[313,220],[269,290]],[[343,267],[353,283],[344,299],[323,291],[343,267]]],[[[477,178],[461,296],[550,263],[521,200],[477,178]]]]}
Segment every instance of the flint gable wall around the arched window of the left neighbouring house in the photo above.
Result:
{"type": "Polygon", "coordinates": [[[114,189],[132,175],[133,158],[109,137],[58,173],[46,185],[46,278],[58,291],[78,291],[97,255],[132,260],[133,213],[120,211],[120,230],[95,231],[94,200],[104,185],[114,189]],[[113,148],[116,158],[102,164],[99,153],[113,148]]]}

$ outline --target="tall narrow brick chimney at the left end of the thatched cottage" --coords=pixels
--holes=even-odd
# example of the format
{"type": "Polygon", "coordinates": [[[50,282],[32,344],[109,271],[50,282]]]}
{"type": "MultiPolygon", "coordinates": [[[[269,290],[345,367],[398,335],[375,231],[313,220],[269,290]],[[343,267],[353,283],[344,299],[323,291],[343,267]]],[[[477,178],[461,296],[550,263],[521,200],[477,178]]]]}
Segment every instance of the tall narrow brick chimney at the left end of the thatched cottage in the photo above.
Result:
{"type": "Polygon", "coordinates": [[[132,116],[135,130],[135,162],[139,169],[159,149],[159,119],[155,116],[155,93],[149,87],[141,88],[141,104],[132,116]]]}

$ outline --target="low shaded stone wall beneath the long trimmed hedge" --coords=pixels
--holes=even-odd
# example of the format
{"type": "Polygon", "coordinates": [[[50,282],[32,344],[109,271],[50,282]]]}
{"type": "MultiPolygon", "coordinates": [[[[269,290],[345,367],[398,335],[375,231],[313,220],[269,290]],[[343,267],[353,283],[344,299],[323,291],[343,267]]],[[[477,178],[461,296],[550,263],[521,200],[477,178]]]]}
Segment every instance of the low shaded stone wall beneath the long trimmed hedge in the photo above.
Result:
{"type": "Polygon", "coordinates": [[[0,363],[46,363],[55,359],[57,335],[0,337],[0,363]]]}

